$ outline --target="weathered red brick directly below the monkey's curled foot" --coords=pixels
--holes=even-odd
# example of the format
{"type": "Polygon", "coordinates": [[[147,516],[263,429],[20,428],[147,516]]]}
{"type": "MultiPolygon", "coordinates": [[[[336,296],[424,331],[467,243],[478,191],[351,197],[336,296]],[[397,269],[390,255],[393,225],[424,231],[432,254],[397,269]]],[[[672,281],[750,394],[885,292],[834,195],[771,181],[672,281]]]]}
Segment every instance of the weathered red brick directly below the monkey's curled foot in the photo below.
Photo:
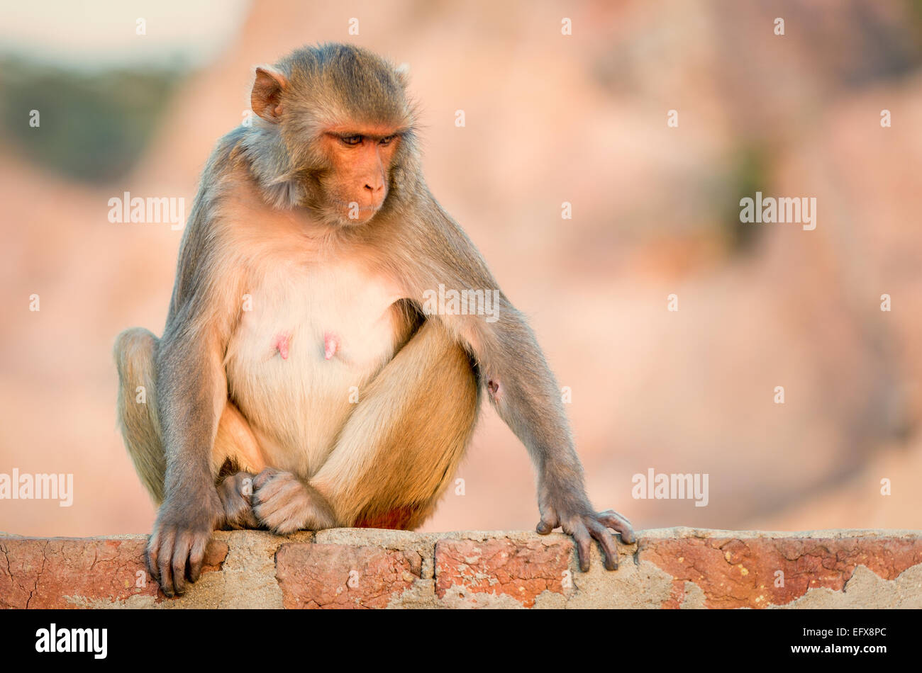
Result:
{"type": "Polygon", "coordinates": [[[415,551],[339,544],[283,544],[276,577],[286,608],[386,608],[420,578],[415,551]]]}

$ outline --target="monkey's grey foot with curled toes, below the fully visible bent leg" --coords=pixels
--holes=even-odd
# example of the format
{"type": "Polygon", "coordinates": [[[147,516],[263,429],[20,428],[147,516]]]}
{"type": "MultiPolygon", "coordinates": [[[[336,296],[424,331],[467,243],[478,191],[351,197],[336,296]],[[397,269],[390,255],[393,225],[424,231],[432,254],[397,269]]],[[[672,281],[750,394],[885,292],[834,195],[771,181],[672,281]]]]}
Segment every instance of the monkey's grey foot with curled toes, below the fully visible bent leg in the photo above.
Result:
{"type": "Polygon", "coordinates": [[[323,495],[290,472],[276,468],[256,475],[251,502],[259,523],[279,534],[336,526],[333,509],[323,495]]]}

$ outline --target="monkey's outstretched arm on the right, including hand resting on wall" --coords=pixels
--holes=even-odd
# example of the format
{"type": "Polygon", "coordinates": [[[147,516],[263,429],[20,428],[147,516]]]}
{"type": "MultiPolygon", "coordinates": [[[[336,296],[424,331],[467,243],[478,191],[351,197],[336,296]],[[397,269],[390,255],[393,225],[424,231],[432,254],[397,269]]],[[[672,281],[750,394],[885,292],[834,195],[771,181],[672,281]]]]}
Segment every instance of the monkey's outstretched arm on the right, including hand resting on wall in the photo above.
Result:
{"type": "MultiPolygon", "coordinates": [[[[455,290],[497,290],[496,280],[477,249],[439,206],[439,222],[425,227],[416,252],[428,261],[414,279],[411,298],[422,303],[422,293],[439,284],[455,290]]],[[[432,210],[430,211],[432,212],[432,210]]],[[[580,567],[589,567],[590,539],[604,551],[609,570],[617,567],[618,551],[608,528],[634,540],[630,522],[616,512],[598,513],[585,493],[583,467],[573,447],[561,391],[550,372],[534,332],[508,299],[498,292],[494,316],[437,315],[455,337],[474,354],[481,381],[502,420],[528,449],[538,471],[538,532],[561,526],[572,535],[580,567]],[[487,318],[495,317],[495,321],[487,318]]]]}

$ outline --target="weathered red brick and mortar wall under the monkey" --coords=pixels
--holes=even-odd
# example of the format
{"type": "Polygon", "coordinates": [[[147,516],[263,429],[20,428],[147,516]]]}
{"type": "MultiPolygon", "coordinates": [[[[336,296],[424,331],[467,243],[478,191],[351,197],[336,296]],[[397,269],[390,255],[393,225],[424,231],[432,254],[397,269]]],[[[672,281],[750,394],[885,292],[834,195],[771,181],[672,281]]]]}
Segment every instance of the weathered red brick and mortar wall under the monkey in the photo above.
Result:
{"type": "Polygon", "coordinates": [[[0,607],[922,608],[922,531],[644,530],[588,573],[559,533],[219,531],[181,598],[148,577],[146,543],[0,534],[0,607]]]}

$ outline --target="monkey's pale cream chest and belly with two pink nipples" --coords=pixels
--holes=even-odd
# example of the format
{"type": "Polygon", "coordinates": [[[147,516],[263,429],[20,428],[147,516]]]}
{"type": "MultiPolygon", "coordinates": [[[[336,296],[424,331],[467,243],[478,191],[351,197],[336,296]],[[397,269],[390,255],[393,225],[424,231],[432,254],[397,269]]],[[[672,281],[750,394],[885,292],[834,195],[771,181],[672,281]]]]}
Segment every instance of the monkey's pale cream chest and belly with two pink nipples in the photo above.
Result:
{"type": "Polygon", "coordinates": [[[251,294],[225,358],[231,399],[266,464],[310,478],[394,356],[396,296],[348,268],[269,278],[251,294]]]}

